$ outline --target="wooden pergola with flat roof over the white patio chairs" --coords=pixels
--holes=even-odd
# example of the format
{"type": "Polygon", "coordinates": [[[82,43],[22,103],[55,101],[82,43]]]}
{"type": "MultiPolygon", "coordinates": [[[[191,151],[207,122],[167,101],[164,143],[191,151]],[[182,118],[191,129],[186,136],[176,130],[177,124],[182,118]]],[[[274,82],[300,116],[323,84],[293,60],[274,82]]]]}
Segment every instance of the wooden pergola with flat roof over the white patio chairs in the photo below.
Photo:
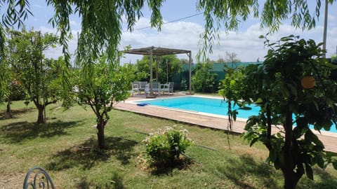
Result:
{"type": "MultiPolygon", "coordinates": [[[[150,56],[150,96],[153,96],[152,92],[152,71],[153,71],[153,56],[163,56],[163,55],[177,55],[177,54],[186,54],[189,57],[189,85],[188,85],[188,94],[192,94],[192,87],[191,87],[191,64],[192,64],[192,52],[191,50],[180,50],[180,49],[173,49],[173,48],[160,48],[160,47],[147,47],[147,48],[135,48],[130,50],[125,50],[124,53],[133,54],[133,55],[149,55],[150,56]]],[[[158,64],[157,64],[158,66],[158,64]]],[[[158,67],[157,67],[158,69],[158,67]]],[[[156,78],[158,80],[158,73],[156,74],[156,78]]]]}

